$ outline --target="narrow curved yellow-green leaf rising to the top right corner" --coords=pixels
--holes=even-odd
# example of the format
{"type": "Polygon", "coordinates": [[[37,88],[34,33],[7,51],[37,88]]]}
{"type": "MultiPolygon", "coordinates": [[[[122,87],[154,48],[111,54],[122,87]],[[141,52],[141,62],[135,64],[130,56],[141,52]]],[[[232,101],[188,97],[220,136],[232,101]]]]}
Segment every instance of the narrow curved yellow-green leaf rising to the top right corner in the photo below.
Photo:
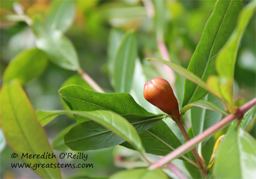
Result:
{"type": "Polygon", "coordinates": [[[216,58],[216,70],[220,76],[222,96],[233,111],[234,64],[237,59],[239,43],[254,12],[255,1],[252,1],[241,11],[236,29],[216,58]]]}

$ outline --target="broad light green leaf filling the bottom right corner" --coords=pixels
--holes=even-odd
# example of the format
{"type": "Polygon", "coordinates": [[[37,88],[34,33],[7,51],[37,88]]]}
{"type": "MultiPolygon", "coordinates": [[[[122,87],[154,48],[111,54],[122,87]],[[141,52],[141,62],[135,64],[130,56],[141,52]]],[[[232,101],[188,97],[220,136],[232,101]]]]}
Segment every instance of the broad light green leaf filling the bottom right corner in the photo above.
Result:
{"type": "Polygon", "coordinates": [[[232,129],[222,141],[214,164],[215,178],[254,178],[256,141],[243,129],[232,129]]]}

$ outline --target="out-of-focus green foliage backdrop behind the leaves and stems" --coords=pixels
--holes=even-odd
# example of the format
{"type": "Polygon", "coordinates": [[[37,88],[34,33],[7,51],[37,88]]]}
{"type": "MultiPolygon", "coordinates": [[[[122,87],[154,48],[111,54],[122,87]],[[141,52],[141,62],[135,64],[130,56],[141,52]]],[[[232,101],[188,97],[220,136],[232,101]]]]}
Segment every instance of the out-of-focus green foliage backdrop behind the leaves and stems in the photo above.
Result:
{"type": "MultiPolygon", "coordinates": [[[[138,56],[142,62],[143,71],[147,79],[161,77],[161,72],[155,64],[148,64],[146,57],[158,57],[160,53],[157,46],[159,29],[156,20],[159,11],[155,11],[156,1],[74,1],[75,19],[65,35],[74,44],[80,59],[81,68],[87,72],[106,92],[114,92],[109,79],[108,48],[109,34],[112,28],[125,33],[135,31],[138,56]],[[156,76],[157,75],[157,76],[156,76]]],[[[18,53],[35,47],[35,36],[24,21],[17,18],[13,9],[14,3],[24,7],[24,13],[30,17],[35,14],[46,16],[50,11],[51,1],[1,1],[1,31],[0,31],[0,58],[1,81],[3,73],[10,60],[18,53]]],[[[189,60],[201,38],[204,26],[210,16],[216,1],[163,1],[164,12],[162,26],[163,39],[167,45],[170,58],[187,68],[189,60]]],[[[243,1],[243,5],[249,1],[243,1]]],[[[255,97],[256,84],[256,46],[255,46],[255,14],[242,38],[238,51],[236,70],[234,72],[234,98],[243,97],[247,100],[255,97]]],[[[161,31],[161,30],[160,30],[161,31]]],[[[161,32],[160,32],[161,34],[161,32]]],[[[161,35],[160,35],[161,36],[161,35]]],[[[35,109],[61,109],[62,105],[58,89],[68,78],[76,72],[60,68],[54,63],[48,63],[46,71],[38,78],[24,85],[35,109]]],[[[179,77],[180,78],[180,77],[179,77]]],[[[183,79],[183,78],[182,78],[183,79]]],[[[183,89],[180,89],[183,94],[183,89]]],[[[178,94],[178,97],[182,96],[178,94]]],[[[46,126],[49,139],[52,140],[57,133],[71,124],[66,116],[58,117],[46,126]],[[57,125],[56,125],[57,124],[57,125]]],[[[255,127],[253,128],[255,131],[255,127]]],[[[255,132],[254,132],[255,137],[255,132]]],[[[86,172],[99,175],[111,175],[120,170],[114,166],[113,148],[87,152],[91,163],[97,164],[94,169],[86,172]]],[[[9,164],[11,149],[6,146],[1,152],[1,166],[9,164]]],[[[10,165],[9,165],[10,166],[10,165]]],[[[28,177],[23,170],[10,173],[10,167],[2,168],[1,177],[28,177]]],[[[74,172],[72,170],[72,172],[74,172]]],[[[82,172],[81,170],[75,171],[82,172]]],[[[30,172],[29,172],[30,173],[30,172]]],[[[32,173],[32,172],[31,172],[32,173]]],[[[64,172],[70,175],[69,171],[64,172]]],[[[32,174],[33,177],[36,177],[32,174]]]]}

